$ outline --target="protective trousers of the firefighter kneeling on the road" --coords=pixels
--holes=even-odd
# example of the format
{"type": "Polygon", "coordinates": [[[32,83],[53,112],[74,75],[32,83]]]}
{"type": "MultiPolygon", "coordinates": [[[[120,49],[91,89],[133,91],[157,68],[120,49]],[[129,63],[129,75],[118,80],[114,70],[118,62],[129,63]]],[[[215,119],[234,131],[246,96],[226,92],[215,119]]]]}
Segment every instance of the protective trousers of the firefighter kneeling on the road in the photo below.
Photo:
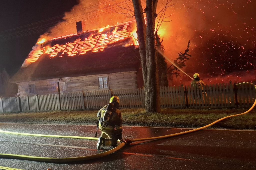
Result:
{"type": "Polygon", "coordinates": [[[113,129],[106,129],[102,126],[99,126],[99,129],[101,130],[101,137],[104,138],[104,144],[105,146],[110,146],[110,145],[116,145],[117,144],[117,138],[114,133],[114,128],[113,129]],[[109,137],[109,139],[106,139],[109,137]]]}

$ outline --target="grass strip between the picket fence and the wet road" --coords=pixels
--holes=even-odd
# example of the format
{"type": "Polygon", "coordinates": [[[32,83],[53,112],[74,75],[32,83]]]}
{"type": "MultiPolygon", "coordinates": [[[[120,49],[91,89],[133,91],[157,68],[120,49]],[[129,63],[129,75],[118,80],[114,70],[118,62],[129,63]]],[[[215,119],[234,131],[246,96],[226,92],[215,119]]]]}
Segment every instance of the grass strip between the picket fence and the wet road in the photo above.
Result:
{"type": "MultiPolygon", "coordinates": [[[[161,113],[146,113],[144,109],[122,109],[123,125],[197,128],[225,116],[240,114],[247,109],[171,109],[161,113]]],[[[97,110],[0,113],[0,122],[33,124],[95,125],[97,110]]],[[[256,129],[256,111],[231,117],[213,128],[256,129]]]]}

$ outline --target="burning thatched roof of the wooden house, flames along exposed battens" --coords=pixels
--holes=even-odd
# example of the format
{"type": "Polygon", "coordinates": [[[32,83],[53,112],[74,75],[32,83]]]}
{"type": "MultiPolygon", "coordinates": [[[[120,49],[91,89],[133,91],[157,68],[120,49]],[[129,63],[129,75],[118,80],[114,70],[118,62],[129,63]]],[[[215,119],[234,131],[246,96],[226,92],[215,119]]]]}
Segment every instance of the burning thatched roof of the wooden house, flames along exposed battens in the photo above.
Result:
{"type": "Polygon", "coordinates": [[[12,82],[135,71],[140,56],[129,23],[34,46],[12,82]],[[127,46],[128,45],[128,46],[127,46]]]}

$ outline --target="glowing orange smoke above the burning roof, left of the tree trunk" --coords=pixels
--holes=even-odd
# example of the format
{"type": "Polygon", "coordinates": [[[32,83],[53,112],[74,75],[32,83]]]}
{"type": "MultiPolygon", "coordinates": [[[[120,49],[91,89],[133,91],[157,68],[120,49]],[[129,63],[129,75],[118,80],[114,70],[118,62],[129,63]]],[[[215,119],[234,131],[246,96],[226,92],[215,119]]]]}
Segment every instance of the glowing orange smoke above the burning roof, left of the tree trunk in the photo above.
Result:
{"type": "MultiPolygon", "coordinates": [[[[63,21],[50,28],[41,39],[52,39],[76,33],[76,22],[85,21],[85,30],[92,30],[129,21],[122,8],[132,7],[123,0],[80,0],[71,11],[66,12],[63,21]]],[[[126,11],[126,10],[125,10],[126,11]]]]}

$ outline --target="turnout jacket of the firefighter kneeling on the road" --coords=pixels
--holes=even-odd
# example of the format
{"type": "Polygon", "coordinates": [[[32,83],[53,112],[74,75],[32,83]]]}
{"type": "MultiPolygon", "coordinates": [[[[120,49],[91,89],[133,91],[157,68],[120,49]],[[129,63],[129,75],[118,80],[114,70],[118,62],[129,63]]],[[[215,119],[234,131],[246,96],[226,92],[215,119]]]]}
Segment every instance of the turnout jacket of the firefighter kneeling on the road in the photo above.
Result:
{"type": "MultiPolygon", "coordinates": [[[[97,115],[101,114],[101,117],[103,117],[106,107],[107,107],[107,105],[101,107],[101,109],[98,111],[97,115]]],[[[122,129],[122,115],[121,115],[121,111],[118,108],[116,108],[116,110],[112,112],[111,117],[106,124],[108,125],[107,126],[108,129],[114,129],[114,127],[116,129],[122,129]]],[[[103,126],[103,123],[99,122],[99,126],[103,126]]]]}

